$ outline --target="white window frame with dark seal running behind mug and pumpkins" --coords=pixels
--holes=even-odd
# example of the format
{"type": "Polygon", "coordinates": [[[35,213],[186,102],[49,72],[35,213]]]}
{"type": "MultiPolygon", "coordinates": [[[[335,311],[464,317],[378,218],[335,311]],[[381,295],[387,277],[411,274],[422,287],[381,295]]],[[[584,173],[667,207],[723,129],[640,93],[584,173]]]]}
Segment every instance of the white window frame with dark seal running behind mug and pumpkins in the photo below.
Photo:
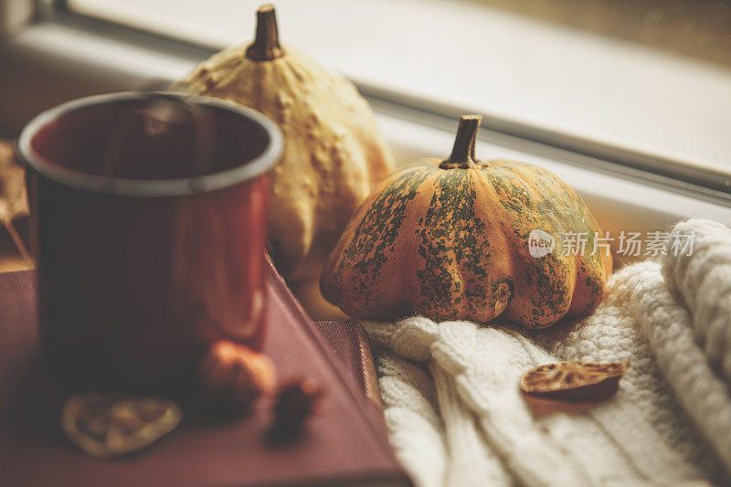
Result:
{"type": "MultiPolygon", "coordinates": [[[[3,1],[3,0],[0,0],[3,1]]],[[[41,10],[31,23],[0,43],[0,132],[16,133],[37,111],[79,96],[139,89],[151,78],[161,85],[177,79],[213,51],[128,27],[69,13],[41,10]]],[[[389,93],[360,85],[399,163],[449,153],[462,109],[393,100],[389,93]],[[418,105],[418,106],[415,106],[418,105]]],[[[661,160],[626,164],[621,149],[564,141],[560,134],[531,133],[524,127],[483,123],[479,154],[541,164],[584,197],[603,228],[651,231],[689,217],[731,226],[731,194],[717,175],[694,181],[663,174],[661,160]],[[623,164],[620,164],[620,161],[623,164]],[[726,190],[724,190],[726,189],[726,190]]]]}

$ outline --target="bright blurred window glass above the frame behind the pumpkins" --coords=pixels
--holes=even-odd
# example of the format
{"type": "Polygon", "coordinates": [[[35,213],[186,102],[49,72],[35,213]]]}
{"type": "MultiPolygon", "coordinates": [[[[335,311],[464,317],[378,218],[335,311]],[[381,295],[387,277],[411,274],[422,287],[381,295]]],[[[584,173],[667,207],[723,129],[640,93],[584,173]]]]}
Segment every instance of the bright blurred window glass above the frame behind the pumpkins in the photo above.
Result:
{"type": "MultiPolygon", "coordinates": [[[[249,0],[68,0],[208,48],[253,35],[249,0]]],[[[281,39],[429,111],[495,120],[731,174],[731,2],[278,0],[281,39]]]]}

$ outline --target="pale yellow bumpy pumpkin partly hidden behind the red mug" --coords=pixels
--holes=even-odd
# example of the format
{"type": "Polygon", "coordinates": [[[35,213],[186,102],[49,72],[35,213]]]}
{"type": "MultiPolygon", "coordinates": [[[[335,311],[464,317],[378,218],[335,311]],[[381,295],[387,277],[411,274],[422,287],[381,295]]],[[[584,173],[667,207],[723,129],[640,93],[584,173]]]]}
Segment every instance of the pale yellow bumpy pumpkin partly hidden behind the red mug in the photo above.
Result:
{"type": "Polygon", "coordinates": [[[286,278],[316,278],[357,206],[394,164],[355,86],[281,48],[271,5],[260,7],[257,22],[252,44],[224,49],[173,88],[236,101],[279,124],[286,148],[270,175],[270,252],[286,278]]]}

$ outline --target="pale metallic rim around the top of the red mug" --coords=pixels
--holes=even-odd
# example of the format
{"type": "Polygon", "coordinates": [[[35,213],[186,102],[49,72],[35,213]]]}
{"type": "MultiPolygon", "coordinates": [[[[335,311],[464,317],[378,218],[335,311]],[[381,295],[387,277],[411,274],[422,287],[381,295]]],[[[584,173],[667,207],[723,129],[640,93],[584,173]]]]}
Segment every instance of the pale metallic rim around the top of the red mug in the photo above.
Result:
{"type": "Polygon", "coordinates": [[[271,122],[269,118],[259,111],[238,105],[232,101],[188,95],[185,93],[124,91],[121,93],[95,95],[80,98],[79,100],[67,101],[57,107],[39,113],[33,120],[26,124],[26,127],[20,133],[20,137],[18,137],[17,146],[20,158],[27,165],[40,175],[44,175],[62,185],[114,196],[185,196],[207,193],[232,185],[238,185],[267,172],[280,160],[284,150],[284,139],[276,123],[271,122]],[[72,111],[120,101],[149,101],[151,96],[160,96],[196,105],[207,105],[228,111],[238,116],[238,118],[259,125],[269,136],[269,144],[261,154],[230,169],[209,175],[175,179],[132,179],[90,175],[52,163],[33,150],[31,142],[38,131],[72,111]]]}

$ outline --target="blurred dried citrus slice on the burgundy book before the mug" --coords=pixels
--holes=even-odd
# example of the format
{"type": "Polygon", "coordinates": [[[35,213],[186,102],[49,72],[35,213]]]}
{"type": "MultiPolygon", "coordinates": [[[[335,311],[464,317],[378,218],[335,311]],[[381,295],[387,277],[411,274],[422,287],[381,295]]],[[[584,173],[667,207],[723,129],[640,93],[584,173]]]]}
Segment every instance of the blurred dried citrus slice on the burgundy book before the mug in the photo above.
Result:
{"type": "Polygon", "coordinates": [[[172,401],[90,392],[67,399],[61,429],[81,450],[103,458],[143,449],[175,429],[181,418],[172,401]]]}

